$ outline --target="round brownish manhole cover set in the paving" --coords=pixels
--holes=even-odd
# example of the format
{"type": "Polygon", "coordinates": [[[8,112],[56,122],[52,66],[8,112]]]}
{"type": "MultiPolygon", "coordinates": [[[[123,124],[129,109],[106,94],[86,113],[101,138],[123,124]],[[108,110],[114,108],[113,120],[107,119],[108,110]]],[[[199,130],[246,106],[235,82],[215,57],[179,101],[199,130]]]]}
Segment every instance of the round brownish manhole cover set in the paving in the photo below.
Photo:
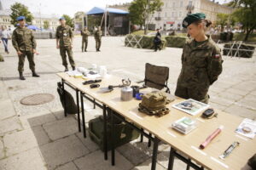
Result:
{"type": "Polygon", "coordinates": [[[20,100],[22,105],[42,105],[55,99],[52,94],[32,94],[20,100]]]}

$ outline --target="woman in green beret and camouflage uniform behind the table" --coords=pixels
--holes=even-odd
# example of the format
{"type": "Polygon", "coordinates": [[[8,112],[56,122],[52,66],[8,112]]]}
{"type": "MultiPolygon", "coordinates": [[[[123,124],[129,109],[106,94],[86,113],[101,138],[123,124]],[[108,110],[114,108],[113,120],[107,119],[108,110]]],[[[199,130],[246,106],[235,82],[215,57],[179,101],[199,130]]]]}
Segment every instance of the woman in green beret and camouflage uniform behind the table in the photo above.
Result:
{"type": "Polygon", "coordinates": [[[222,72],[222,57],[217,44],[206,35],[212,22],[202,13],[189,14],[183,20],[190,39],[183,47],[182,70],[175,95],[208,103],[208,89],[222,72]]]}

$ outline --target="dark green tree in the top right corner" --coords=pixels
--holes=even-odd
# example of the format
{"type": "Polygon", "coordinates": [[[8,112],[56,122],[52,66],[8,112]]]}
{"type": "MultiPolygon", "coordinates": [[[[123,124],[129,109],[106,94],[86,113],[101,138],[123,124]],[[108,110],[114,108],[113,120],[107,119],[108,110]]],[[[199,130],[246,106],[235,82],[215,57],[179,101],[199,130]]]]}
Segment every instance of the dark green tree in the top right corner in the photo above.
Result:
{"type": "Polygon", "coordinates": [[[232,14],[236,20],[241,23],[243,29],[246,31],[244,41],[247,41],[249,35],[253,33],[256,28],[256,1],[255,0],[233,0],[230,6],[236,7],[232,14]]]}

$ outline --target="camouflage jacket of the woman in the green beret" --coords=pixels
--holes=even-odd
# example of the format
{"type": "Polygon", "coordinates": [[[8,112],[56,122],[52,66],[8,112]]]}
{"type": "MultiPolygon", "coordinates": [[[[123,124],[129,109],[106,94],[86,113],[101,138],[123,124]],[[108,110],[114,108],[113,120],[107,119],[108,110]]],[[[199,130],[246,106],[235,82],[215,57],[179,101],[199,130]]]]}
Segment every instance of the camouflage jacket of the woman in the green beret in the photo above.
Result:
{"type": "Polygon", "coordinates": [[[183,48],[182,70],[177,84],[185,88],[209,88],[222,72],[222,63],[220,49],[211,37],[200,45],[189,40],[183,48]]]}

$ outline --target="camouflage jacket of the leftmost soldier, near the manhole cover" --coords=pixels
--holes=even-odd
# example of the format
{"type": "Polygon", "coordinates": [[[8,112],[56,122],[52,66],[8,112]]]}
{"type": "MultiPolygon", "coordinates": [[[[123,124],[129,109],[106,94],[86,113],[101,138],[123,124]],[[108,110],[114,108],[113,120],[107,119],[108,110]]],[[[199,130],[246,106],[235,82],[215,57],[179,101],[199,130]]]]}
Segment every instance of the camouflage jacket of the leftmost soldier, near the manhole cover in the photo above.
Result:
{"type": "Polygon", "coordinates": [[[35,37],[33,36],[32,30],[18,26],[12,35],[13,46],[16,51],[32,51],[37,48],[35,37]]]}

